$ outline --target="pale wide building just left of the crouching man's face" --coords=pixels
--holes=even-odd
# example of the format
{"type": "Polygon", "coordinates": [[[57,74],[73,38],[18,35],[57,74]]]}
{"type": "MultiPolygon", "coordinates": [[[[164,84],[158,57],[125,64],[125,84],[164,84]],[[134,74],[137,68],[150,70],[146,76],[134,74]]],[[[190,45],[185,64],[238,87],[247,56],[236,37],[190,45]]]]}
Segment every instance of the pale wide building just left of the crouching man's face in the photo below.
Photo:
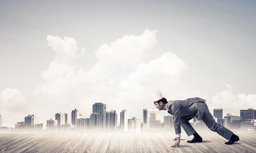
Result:
{"type": "Polygon", "coordinates": [[[158,109],[143,109],[143,129],[163,129],[161,112],[158,109]]]}

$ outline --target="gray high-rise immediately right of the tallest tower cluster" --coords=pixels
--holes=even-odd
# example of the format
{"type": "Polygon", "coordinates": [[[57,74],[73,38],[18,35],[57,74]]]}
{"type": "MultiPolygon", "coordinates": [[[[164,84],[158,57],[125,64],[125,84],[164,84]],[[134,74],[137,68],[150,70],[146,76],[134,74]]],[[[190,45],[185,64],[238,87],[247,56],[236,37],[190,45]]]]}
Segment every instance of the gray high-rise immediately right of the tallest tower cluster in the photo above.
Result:
{"type": "Polygon", "coordinates": [[[117,113],[115,110],[107,112],[107,131],[117,131],[117,113]]]}

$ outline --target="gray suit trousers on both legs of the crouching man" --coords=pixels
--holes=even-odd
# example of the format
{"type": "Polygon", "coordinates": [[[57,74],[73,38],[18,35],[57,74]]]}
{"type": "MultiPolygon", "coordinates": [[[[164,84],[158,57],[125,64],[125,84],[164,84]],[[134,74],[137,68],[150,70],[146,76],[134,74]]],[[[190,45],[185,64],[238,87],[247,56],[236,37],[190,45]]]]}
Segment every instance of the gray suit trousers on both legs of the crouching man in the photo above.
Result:
{"type": "MultiPolygon", "coordinates": [[[[198,105],[205,105],[204,108],[204,115],[202,120],[206,124],[206,126],[211,129],[211,131],[217,132],[219,135],[223,136],[223,138],[229,140],[233,135],[233,132],[229,129],[225,128],[221,124],[215,122],[214,118],[212,117],[211,113],[209,112],[208,106],[205,103],[198,103],[198,105]]],[[[191,136],[196,133],[195,129],[189,123],[189,120],[193,119],[195,115],[188,115],[184,117],[180,117],[180,125],[187,133],[188,136],[191,136]]]]}

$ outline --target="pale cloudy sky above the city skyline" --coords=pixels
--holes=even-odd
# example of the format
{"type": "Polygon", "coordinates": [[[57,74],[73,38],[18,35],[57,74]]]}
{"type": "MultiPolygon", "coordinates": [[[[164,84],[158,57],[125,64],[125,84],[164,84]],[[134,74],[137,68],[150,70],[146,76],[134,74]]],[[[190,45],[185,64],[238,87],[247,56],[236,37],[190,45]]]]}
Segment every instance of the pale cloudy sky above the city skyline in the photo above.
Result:
{"type": "Polygon", "coordinates": [[[224,115],[256,108],[255,14],[255,1],[0,1],[4,126],[96,102],[142,119],[158,88],[224,115]]]}

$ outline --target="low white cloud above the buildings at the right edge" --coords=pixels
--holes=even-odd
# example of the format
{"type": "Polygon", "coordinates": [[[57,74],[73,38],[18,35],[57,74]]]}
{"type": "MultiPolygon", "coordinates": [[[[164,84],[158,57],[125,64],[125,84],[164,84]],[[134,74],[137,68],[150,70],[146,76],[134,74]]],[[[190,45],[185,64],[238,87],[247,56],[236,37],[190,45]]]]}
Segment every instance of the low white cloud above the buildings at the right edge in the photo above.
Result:
{"type": "MultiPolygon", "coordinates": [[[[242,109],[256,108],[256,94],[234,94],[234,87],[227,85],[227,89],[212,97],[212,108],[223,108],[223,112],[240,115],[242,109]]],[[[226,115],[226,114],[223,114],[226,115]]]]}

